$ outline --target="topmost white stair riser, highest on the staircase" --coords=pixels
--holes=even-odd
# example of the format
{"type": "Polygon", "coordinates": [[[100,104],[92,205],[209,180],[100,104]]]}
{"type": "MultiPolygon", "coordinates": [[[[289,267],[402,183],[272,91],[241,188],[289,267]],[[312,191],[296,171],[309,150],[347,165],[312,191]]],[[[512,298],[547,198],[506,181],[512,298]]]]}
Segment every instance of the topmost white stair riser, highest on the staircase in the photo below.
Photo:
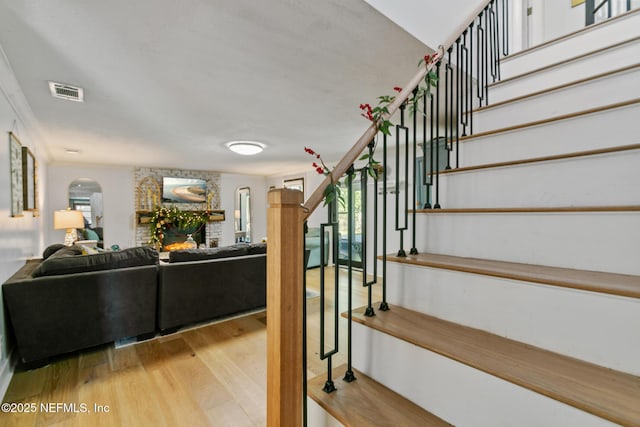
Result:
{"type": "Polygon", "coordinates": [[[503,79],[513,77],[534,68],[561,62],[567,57],[606,48],[620,40],[637,36],[639,27],[640,13],[633,13],[561,41],[532,49],[524,55],[507,57],[501,62],[501,77],[503,79]]]}

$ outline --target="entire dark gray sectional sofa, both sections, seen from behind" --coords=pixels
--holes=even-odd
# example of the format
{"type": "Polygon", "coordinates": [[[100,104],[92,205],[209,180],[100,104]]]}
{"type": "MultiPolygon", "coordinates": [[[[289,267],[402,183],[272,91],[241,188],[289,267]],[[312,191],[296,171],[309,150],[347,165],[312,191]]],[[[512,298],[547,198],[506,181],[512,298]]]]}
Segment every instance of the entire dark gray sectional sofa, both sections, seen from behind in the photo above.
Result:
{"type": "Polygon", "coordinates": [[[176,251],[169,263],[148,247],[94,255],[57,249],[2,285],[23,363],[266,305],[264,246],[176,251]]]}

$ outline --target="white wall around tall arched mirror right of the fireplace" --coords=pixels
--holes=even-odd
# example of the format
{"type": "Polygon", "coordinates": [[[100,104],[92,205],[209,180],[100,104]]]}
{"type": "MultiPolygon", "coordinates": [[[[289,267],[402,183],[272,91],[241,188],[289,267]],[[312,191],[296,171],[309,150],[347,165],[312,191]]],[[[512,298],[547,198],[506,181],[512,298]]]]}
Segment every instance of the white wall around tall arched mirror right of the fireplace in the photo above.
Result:
{"type": "Polygon", "coordinates": [[[251,189],[251,241],[259,242],[267,237],[267,189],[263,176],[220,174],[220,208],[224,209],[226,219],[222,223],[222,240],[220,246],[234,243],[233,211],[235,210],[235,194],[238,188],[251,189]]]}

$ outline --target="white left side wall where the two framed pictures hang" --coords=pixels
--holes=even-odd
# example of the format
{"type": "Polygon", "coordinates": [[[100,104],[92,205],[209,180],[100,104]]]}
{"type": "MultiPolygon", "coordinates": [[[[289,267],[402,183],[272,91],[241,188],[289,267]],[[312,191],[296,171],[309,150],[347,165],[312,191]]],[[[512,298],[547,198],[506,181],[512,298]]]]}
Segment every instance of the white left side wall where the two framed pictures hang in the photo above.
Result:
{"type": "MultiPolygon", "coordinates": [[[[47,155],[39,143],[38,134],[30,128],[30,110],[25,109],[24,98],[11,67],[0,47],[0,283],[11,277],[25,261],[42,253],[42,217],[24,212],[22,217],[11,217],[11,189],[9,175],[9,136],[12,130],[23,146],[29,147],[38,162],[38,207],[46,194],[47,155]]],[[[13,367],[9,360],[13,343],[7,341],[4,303],[0,294],[0,396],[11,380],[13,367]]]]}

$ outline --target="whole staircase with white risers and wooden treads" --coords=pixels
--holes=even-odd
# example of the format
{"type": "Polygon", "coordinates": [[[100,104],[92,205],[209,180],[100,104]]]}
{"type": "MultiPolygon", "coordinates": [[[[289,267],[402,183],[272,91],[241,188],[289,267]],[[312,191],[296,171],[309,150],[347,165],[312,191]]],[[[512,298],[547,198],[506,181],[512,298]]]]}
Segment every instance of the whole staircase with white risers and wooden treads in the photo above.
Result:
{"type": "Polygon", "coordinates": [[[502,60],[420,254],[387,258],[391,310],[354,312],[357,381],[312,379],[309,425],[640,426],[638,28],[502,60]]]}

